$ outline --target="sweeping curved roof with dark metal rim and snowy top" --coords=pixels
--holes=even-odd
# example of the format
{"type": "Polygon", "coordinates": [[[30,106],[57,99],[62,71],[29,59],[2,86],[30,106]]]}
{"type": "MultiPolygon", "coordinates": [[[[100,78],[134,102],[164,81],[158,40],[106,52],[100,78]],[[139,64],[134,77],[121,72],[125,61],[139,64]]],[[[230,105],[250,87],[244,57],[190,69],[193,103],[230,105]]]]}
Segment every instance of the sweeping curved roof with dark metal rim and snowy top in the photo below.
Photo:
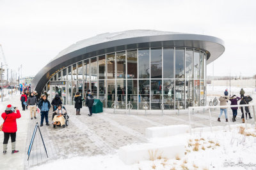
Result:
{"type": "Polygon", "coordinates": [[[31,87],[41,92],[53,74],[80,60],[115,51],[159,46],[186,46],[204,50],[207,64],[225,51],[223,40],[213,36],[156,30],[108,32],[78,41],[62,50],[36,74],[31,87]]]}

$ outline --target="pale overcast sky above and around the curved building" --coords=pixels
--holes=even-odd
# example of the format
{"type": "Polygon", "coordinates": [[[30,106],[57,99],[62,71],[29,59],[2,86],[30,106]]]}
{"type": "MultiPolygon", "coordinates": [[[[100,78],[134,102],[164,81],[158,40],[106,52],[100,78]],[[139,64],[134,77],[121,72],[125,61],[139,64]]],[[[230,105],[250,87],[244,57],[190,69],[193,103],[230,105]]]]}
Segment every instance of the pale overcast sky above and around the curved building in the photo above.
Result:
{"type": "MultiPolygon", "coordinates": [[[[216,36],[214,76],[256,74],[256,1],[0,0],[0,44],[10,66],[35,75],[61,50],[104,32],[156,29],[216,36]]],[[[1,55],[0,55],[1,56],[1,55]]],[[[212,75],[212,64],[207,66],[212,75]]]]}

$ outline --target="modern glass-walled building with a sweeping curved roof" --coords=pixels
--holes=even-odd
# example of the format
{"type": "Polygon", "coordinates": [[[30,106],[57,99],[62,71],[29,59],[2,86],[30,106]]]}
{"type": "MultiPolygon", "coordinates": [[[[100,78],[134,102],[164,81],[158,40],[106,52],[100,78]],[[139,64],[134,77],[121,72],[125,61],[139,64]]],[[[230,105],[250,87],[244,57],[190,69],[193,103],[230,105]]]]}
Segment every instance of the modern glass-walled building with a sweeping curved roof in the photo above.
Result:
{"type": "Polygon", "coordinates": [[[36,74],[37,92],[74,104],[87,90],[104,108],[177,110],[206,103],[206,65],[225,51],[216,37],[133,30],[99,34],[61,51],[36,74]]]}

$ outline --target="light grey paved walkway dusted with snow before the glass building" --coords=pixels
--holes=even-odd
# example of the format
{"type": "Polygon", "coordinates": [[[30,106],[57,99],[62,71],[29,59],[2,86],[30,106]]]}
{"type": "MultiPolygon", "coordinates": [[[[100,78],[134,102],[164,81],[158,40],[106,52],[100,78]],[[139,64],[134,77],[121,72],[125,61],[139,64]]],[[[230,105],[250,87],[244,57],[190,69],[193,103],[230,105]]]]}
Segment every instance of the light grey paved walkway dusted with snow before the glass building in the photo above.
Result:
{"type": "MultiPolygon", "coordinates": [[[[12,99],[10,102],[19,104],[19,97],[12,99]]],[[[8,102],[8,103],[10,103],[8,102]]],[[[4,103],[6,105],[7,103],[4,103]]],[[[13,105],[14,105],[13,104],[13,105]]],[[[92,155],[107,155],[109,153],[116,153],[120,146],[129,145],[131,143],[145,143],[145,129],[147,127],[175,125],[175,124],[189,124],[188,114],[182,113],[180,115],[161,115],[156,114],[118,114],[116,113],[100,113],[93,114],[88,117],[88,108],[81,110],[81,115],[76,115],[74,106],[66,106],[69,118],[69,126],[65,128],[50,126],[40,127],[42,136],[45,141],[47,153],[46,157],[44,145],[40,138],[40,134],[36,132],[36,138],[31,150],[29,160],[28,146],[33,134],[36,122],[40,122],[39,113],[38,119],[29,119],[29,112],[22,113],[22,118],[18,120],[17,132],[17,148],[20,153],[17,155],[0,154],[0,160],[6,160],[4,163],[0,162],[0,167],[6,169],[29,169],[29,167],[38,166],[45,162],[65,159],[74,156],[92,156],[92,155]],[[26,151],[26,152],[25,152],[26,151]],[[13,161],[15,162],[13,164],[13,161]]],[[[3,107],[2,107],[3,110],[3,107]]],[[[49,112],[49,120],[51,120],[52,110],[49,112]]],[[[227,125],[225,116],[223,115],[222,122],[217,122],[219,111],[212,110],[212,125],[227,125]]],[[[231,115],[231,113],[230,113],[231,115]]],[[[238,115],[241,115],[239,111],[238,115]]],[[[191,114],[192,127],[209,127],[209,112],[205,111],[191,114]]],[[[237,118],[237,122],[230,124],[241,123],[241,119],[237,118]]],[[[253,123],[253,120],[248,120],[248,123],[253,123]]],[[[0,141],[3,140],[3,135],[0,135],[0,141]]],[[[0,168],[1,169],[1,168],[0,168]]]]}

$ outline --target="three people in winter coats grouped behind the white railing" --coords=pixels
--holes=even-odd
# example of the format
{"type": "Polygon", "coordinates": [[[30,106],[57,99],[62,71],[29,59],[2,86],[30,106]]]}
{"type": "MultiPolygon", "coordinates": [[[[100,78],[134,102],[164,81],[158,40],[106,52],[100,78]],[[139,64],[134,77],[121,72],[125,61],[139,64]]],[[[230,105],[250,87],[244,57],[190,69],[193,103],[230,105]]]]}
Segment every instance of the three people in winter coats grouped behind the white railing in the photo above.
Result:
{"type": "MultiPolygon", "coordinates": [[[[237,105],[239,102],[239,105],[243,105],[243,104],[250,104],[250,101],[252,101],[252,97],[251,96],[244,96],[245,92],[243,89],[240,90],[240,97],[237,97],[236,95],[233,96],[229,96],[228,97],[228,90],[225,90],[224,92],[224,96],[221,96],[219,98],[220,101],[220,106],[227,106],[228,101],[230,101],[230,105],[237,105]]],[[[249,116],[249,118],[252,118],[251,113],[250,113],[250,108],[248,106],[244,106],[244,107],[231,107],[232,113],[233,113],[233,117],[232,117],[232,122],[236,122],[236,117],[237,117],[237,110],[240,109],[241,110],[241,119],[242,122],[244,123],[244,111],[245,111],[245,115],[246,115],[246,119],[247,119],[247,115],[249,116]]],[[[218,117],[218,121],[221,122],[220,117],[222,115],[222,113],[225,113],[225,118],[226,118],[226,122],[228,122],[228,117],[227,117],[227,108],[220,108],[220,115],[218,117]]]]}

